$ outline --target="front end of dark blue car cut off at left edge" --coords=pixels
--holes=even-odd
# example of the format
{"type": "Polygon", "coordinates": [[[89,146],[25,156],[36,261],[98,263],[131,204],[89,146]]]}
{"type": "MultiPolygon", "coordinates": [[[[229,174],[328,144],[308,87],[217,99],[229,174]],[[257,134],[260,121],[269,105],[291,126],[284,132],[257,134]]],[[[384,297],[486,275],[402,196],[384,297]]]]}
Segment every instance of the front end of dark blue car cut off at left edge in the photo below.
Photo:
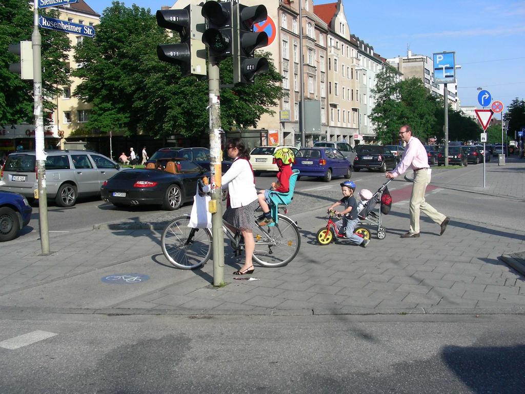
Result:
{"type": "Polygon", "coordinates": [[[18,193],[0,192],[0,242],[14,240],[29,224],[33,208],[18,193]]]}

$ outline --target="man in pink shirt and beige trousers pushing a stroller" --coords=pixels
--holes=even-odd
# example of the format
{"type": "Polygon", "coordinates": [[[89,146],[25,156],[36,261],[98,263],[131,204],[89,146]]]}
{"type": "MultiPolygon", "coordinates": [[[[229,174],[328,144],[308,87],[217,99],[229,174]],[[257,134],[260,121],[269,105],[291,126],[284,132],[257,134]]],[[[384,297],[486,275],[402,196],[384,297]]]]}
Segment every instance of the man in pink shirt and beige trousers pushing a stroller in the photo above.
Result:
{"type": "Polygon", "coordinates": [[[400,138],[406,142],[403,159],[397,163],[392,172],[386,173],[386,178],[393,179],[403,174],[406,170],[414,171],[414,182],[412,184],[412,194],[410,196],[410,229],[401,235],[402,238],[416,238],[419,236],[419,213],[426,214],[430,219],[440,225],[439,235],[443,235],[450,219],[443,213],[425,201],[426,186],[430,183],[432,170],[428,165],[428,157],[425,147],[417,138],[412,136],[412,129],[409,125],[401,126],[399,129],[400,138]]]}

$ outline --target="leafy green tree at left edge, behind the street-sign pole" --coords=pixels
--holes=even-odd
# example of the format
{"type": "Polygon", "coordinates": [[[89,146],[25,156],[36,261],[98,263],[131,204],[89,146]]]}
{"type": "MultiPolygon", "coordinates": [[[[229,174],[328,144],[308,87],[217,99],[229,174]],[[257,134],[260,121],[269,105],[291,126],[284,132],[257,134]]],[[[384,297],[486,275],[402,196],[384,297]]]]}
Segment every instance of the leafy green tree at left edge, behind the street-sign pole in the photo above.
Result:
{"type": "MultiPolygon", "coordinates": [[[[41,15],[58,17],[57,10],[41,9],[41,15]]],[[[0,5],[0,125],[20,122],[33,123],[33,81],[22,80],[8,69],[19,58],[8,53],[10,44],[30,40],[33,32],[33,11],[24,0],[4,0],[0,5]]],[[[53,110],[62,86],[70,84],[66,61],[70,50],[65,33],[40,29],[42,36],[42,82],[44,110],[53,110]]]]}

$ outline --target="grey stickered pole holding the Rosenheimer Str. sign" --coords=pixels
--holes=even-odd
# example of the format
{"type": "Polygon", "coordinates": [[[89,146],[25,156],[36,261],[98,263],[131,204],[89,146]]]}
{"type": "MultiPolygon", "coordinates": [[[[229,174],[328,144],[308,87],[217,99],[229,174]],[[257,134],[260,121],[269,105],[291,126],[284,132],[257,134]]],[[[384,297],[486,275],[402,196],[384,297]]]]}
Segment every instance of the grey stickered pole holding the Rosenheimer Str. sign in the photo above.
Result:
{"type": "Polygon", "coordinates": [[[42,37],[38,31],[38,7],[33,10],[34,28],[31,35],[33,45],[33,91],[35,100],[35,153],[38,175],[38,210],[40,244],[42,254],[49,254],[49,231],[47,225],[46,154],[44,152],[44,116],[42,113],[42,37]]]}

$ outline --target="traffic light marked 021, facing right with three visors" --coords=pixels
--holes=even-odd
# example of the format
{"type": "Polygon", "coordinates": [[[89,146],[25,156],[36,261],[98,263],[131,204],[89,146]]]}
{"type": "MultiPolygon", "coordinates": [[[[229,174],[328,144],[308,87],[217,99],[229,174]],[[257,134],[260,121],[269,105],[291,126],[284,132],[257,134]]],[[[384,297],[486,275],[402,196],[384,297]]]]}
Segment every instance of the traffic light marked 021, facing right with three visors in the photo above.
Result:
{"type": "Polygon", "coordinates": [[[264,5],[234,6],[234,54],[233,81],[234,84],[253,84],[254,78],[261,72],[268,71],[268,60],[264,57],[254,57],[255,50],[268,45],[268,35],[265,32],[254,32],[254,24],[266,20],[268,12],[264,5]]]}

